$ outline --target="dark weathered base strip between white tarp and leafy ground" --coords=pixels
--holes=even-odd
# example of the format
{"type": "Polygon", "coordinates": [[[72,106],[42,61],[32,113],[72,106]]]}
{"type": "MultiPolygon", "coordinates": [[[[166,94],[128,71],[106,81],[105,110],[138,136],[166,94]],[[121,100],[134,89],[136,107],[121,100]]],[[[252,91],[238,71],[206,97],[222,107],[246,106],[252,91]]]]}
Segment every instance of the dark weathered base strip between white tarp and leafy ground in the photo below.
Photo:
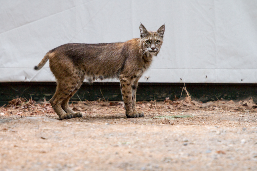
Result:
{"type": "MultiPolygon", "coordinates": [[[[139,83],[136,100],[137,101],[162,101],[166,97],[174,99],[180,97],[182,83],[139,83]]],[[[0,83],[0,105],[8,104],[8,101],[17,98],[31,98],[35,101],[50,100],[55,93],[54,82],[9,82],[0,83]]],[[[240,100],[252,97],[257,102],[257,84],[198,84],[186,83],[186,89],[200,101],[215,101],[217,99],[240,100]]],[[[185,96],[183,92],[182,96],[185,96]]],[[[121,101],[121,90],[119,83],[84,83],[71,101],[97,100],[99,98],[109,101],[121,101]],[[101,94],[101,91],[103,95],[101,94]]]]}

